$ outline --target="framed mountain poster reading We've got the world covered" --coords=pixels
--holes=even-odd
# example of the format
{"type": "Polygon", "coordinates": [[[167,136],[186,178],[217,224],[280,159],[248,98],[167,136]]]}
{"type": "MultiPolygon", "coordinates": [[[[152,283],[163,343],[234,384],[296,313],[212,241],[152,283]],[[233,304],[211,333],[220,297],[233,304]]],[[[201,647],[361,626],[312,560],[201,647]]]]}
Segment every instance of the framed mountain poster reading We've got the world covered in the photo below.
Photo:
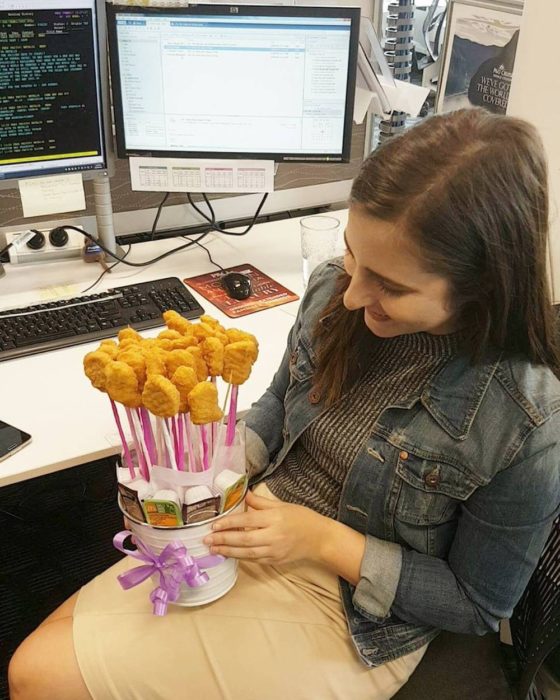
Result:
{"type": "Polygon", "coordinates": [[[516,0],[450,3],[436,112],[484,107],[506,113],[521,13],[516,0]]]}

